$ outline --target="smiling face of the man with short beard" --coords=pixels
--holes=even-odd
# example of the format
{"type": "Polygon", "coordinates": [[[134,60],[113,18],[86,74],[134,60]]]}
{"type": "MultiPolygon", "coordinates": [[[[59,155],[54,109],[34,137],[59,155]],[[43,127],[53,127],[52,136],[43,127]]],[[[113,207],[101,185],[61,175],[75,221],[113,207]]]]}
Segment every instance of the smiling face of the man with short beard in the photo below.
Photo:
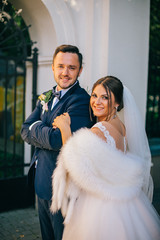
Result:
{"type": "Polygon", "coordinates": [[[78,55],[69,52],[59,52],[56,55],[52,64],[52,70],[58,90],[71,87],[82,72],[78,55]]]}

